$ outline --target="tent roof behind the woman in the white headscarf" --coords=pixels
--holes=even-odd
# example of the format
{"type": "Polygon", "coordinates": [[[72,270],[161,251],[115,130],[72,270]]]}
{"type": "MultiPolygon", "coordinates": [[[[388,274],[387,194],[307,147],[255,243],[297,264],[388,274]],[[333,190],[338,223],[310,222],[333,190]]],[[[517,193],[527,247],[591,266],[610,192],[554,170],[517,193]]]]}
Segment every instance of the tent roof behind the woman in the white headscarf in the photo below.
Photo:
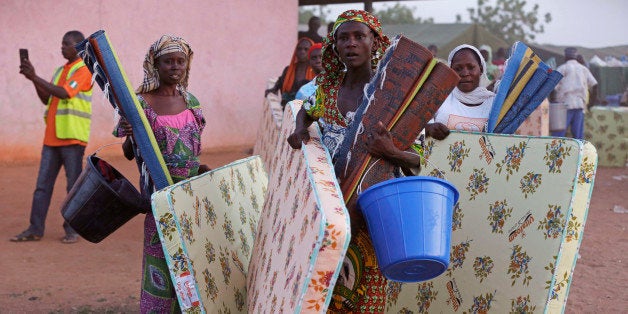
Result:
{"type": "Polygon", "coordinates": [[[384,24],[382,27],[384,28],[384,33],[391,38],[402,34],[426,47],[431,44],[436,45],[438,47],[437,56],[442,59],[447,59],[449,52],[461,44],[469,44],[475,47],[489,45],[493,49],[493,55],[499,47],[508,48],[511,46],[505,40],[478,24],[384,24]]]}

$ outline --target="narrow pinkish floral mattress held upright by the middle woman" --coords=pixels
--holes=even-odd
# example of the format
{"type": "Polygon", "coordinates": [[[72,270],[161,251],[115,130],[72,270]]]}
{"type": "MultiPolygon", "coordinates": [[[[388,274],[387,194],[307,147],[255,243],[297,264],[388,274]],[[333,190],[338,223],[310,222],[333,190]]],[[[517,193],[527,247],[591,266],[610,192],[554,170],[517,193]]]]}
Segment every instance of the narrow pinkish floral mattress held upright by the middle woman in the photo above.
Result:
{"type": "Polygon", "coordinates": [[[292,149],[301,101],[286,105],[247,277],[249,313],[324,313],[350,240],[347,208],[316,124],[292,149]]]}

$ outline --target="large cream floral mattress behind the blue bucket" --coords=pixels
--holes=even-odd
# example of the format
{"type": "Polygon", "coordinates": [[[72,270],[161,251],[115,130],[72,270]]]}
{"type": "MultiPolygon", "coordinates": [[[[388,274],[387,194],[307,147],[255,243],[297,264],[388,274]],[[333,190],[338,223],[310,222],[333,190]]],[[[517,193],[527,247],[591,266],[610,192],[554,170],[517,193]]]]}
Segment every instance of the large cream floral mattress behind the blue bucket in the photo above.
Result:
{"type": "Polygon", "coordinates": [[[586,141],[452,131],[428,139],[422,175],[451,182],[448,269],[389,281],[387,313],[564,311],[597,168],[586,141]]]}

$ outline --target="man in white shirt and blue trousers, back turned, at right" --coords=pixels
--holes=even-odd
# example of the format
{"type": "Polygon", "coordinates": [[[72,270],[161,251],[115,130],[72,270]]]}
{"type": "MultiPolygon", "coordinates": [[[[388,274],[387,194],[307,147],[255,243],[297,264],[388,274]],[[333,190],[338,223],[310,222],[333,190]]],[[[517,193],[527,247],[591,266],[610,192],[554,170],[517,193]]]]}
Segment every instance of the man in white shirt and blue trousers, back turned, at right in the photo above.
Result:
{"type": "Polygon", "coordinates": [[[574,47],[565,48],[565,63],[556,69],[563,78],[554,88],[554,100],[567,105],[567,127],[552,131],[552,136],[564,137],[569,129],[573,138],[584,139],[584,112],[592,105],[591,100],[597,100],[597,80],[578,63],[577,52],[574,47]]]}

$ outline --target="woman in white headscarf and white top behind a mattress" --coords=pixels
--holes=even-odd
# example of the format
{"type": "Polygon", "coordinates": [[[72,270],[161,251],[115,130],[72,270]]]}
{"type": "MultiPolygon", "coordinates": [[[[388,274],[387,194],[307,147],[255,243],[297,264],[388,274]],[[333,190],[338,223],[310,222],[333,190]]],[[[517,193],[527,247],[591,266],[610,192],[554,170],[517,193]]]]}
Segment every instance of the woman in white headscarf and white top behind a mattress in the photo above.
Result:
{"type": "Polygon", "coordinates": [[[437,140],[446,138],[449,130],[483,131],[495,98],[495,93],[480,86],[486,62],[475,47],[465,44],[454,48],[448,64],[460,81],[425,126],[426,135],[437,140]]]}

